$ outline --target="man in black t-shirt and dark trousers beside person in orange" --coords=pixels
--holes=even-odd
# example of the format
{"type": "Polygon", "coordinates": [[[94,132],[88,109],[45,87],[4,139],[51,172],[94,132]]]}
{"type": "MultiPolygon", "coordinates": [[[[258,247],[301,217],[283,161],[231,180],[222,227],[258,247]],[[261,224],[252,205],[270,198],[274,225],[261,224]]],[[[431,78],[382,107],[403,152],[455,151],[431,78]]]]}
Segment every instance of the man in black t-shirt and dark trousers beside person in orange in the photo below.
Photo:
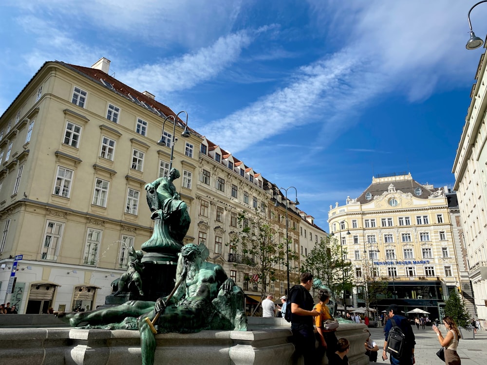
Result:
{"type": "Polygon", "coordinates": [[[300,285],[295,285],[289,292],[291,305],[291,330],[294,336],[296,350],[304,357],[304,365],[314,365],[315,359],[315,333],[313,317],[319,312],[313,309],[313,297],[309,293],[313,285],[313,274],[303,273],[300,276],[300,285]]]}

